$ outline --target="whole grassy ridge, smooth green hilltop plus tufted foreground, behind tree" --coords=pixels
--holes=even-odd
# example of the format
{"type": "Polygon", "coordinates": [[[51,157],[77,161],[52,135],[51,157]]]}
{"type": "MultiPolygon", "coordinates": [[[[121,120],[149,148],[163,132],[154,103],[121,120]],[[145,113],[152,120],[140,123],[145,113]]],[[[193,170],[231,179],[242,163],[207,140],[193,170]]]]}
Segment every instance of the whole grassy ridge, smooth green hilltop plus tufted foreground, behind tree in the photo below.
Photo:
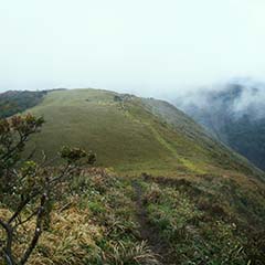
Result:
{"type": "MultiPolygon", "coordinates": [[[[40,165],[39,150],[53,158],[65,144],[89,147],[98,160],[97,168],[83,166],[52,187],[52,211],[29,264],[264,264],[263,173],[171,105],[87,89],[49,93],[29,110],[46,123],[18,162],[30,156],[40,165]]],[[[41,176],[56,176],[65,160],[83,153],[73,150],[49,160],[41,176]]],[[[32,179],[34,167],[25,169],[32,179]]],[[[17,204],[0,198],[0,220],[7,222],[17,204]]],[[[32,237],[36,219],[28,218],[40,202],[29,203],[13,224],[23,223],[14,233],[15,258],[32,237]]],[[[2,253],[4,235],[0,226],[2,253]]]]}

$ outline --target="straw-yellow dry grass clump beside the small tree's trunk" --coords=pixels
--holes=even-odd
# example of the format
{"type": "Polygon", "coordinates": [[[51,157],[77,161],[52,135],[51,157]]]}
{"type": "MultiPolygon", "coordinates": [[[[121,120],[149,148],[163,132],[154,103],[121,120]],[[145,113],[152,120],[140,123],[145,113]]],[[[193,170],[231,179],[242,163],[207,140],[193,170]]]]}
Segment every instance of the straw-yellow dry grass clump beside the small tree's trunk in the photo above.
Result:
{"type": "MultiPolygon", "coordinates": [[[[2,218],[8,218],[10,214],[8,210],[0,210],[2,218]]],[[[20,241],[14,244],[17,256],[21,256],[29,244],[33,233],[32,227],[34,227],[33,220],[18,231],[17,237],[20,241]]],[[[100,240],[103,234],[104,227],[93,222],[92,213],[87,209],[78,210],[72,203],[70,209],[63,212],[57,210],[52,214],[51,227],[43,232],[29,264],[84,264],[85,259],[98,253],[95,241],[100,240]]],[[[2,236],[0,230],[0,237],[2,236]]]]}

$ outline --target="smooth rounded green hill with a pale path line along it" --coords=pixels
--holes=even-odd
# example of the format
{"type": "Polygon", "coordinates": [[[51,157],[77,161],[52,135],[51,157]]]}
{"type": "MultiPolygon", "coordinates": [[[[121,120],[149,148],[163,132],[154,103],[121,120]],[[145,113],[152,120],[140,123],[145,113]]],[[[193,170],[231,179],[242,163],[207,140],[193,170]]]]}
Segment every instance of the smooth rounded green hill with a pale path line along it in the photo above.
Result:
{"type": "Polygon", "coordinates": [[[46,120],[32,142],[49,157],[71,145],[95,151],[98,166],[124,173],[257,173],[165,102],[97,89],[55,91],[26,112],[46,120]]]}

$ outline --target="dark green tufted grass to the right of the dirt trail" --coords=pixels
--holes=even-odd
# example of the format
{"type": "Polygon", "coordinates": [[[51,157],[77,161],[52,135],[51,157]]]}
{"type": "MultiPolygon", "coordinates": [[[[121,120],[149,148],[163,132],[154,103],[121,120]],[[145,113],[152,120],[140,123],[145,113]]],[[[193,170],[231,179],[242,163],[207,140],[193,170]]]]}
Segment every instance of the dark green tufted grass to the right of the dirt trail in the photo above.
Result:
{"type": "MultiPolygon", "coordinates": [[[[219,181],[220,187],[225,184],[219,181]]],[[[233,198],[242,187],[222,195],[222,188],[218,186],[215,191],[214,188],[203,191],[205,183],[202,181],[180,179],[173,182],[161,178],[140,184],[150,225],[170,245],[171,255],[178,257],[176,264],[263,264],[264,197],[254,199],[253,193],[245,193],[246,203],[255,201],[259,208],[258,224],[250,219],[254,219],[255,210],[246,213],[241,200],[233,198]],[[254,245],[257,234],[258,243],[254,245]]]]}

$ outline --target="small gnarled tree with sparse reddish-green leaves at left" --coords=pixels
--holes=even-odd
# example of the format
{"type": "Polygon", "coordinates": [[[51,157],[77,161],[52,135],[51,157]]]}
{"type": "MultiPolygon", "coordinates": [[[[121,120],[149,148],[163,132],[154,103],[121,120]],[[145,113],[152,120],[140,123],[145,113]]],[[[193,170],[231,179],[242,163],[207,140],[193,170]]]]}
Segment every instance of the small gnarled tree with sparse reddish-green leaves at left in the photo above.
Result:
{"type": "Polygon", "coordinates": [[[56,169],[46,166],[44,155],[40,165],[29,159],[22,161],[25,142],[40,131],[43,123],[43,118],[32,115],[0,120],[0,209],[10,210],[8,216],[0,216],[0,235],[3,235],[0,239],[0,257],[8,265],[26,263],[42,231],[49,225],[52,200],[61,190],[60,186],[77,174],[82,165],[95,162],[95,155],[70,147],[62,148],[60,156],[64,163],[56,169]],[[33,220],[29,234],[31,240],[23,254],[18,255],[13,251],[20,240],[18,231],[33,220]]]}

